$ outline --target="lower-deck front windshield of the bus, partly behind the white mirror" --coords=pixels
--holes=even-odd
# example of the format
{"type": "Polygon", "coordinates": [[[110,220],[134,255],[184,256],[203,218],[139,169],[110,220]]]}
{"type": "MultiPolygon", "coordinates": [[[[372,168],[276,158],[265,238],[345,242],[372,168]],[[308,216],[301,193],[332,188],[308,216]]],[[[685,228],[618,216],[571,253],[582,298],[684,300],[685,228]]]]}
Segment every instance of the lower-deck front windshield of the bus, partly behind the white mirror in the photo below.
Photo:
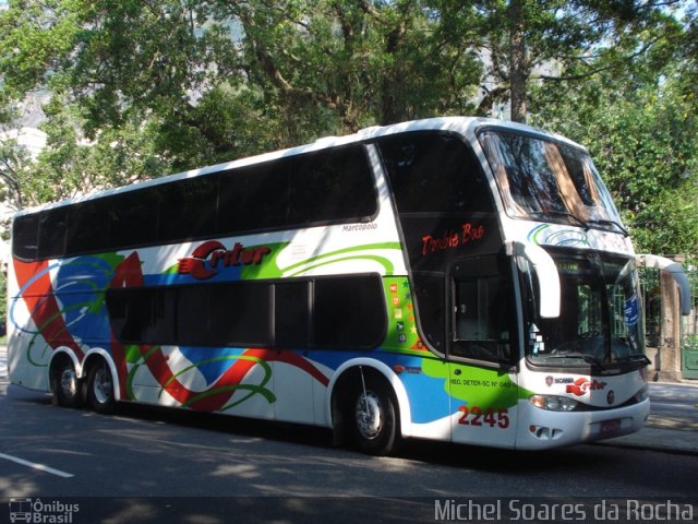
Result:
{"type": "MultiPolygon", "coordinates": [[[[561,283],[561,314],[541,319],[532,298],[533,278],[525,267],[529,361],[576,367],[647,362],[635,262],[597,252],[551,253],[561,283]]],[[[520,261],[519,265],[526,266],[520,261]]]]}

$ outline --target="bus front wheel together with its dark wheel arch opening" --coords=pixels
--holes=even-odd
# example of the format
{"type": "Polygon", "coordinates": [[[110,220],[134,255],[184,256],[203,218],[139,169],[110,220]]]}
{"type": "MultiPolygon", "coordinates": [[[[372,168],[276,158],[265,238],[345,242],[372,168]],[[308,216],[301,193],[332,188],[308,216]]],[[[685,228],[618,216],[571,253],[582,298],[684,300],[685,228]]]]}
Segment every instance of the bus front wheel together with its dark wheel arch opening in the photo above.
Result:
{"type": "Polygon", "coordinates": [[[335,442],[351,439],[371,455],[388,455],[400,441],[398,402],[378,371],[357,367],[347,371],[333,394],[335,442]]]}

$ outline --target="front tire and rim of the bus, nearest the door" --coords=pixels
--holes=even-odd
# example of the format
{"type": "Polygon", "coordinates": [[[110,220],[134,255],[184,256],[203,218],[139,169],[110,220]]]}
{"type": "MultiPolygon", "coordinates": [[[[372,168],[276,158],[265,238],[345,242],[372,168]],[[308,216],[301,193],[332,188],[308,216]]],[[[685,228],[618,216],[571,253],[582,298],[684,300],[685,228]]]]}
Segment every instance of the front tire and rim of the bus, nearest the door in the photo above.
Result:
{"type": "Polygon", "coordinates": [[[396,403],[385,380],[366,374],[365,394],[359,382],[350,405],[353,437],[359,449],[371,455],[387,455],[398,441],[396,403]]]}

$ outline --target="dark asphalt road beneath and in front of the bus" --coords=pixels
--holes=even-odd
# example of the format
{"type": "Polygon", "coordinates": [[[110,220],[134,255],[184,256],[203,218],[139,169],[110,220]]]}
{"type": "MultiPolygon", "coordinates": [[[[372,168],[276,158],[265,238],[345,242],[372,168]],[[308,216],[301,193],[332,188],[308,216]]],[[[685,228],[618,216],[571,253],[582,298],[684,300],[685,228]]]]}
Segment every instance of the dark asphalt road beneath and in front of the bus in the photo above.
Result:
{"type": "Polygon", "coordinates": [[[109,522],[243,522],[219,512],[312,522],[357,511],[370,522],[433,522],[435,500],[676,499],[695,497],[698,478],[696,455],[604,445],[526,453],[411,442],[370,457],[333,448],[322,429],[143,406],[109,417],[7,384],[0,428],[0,496],[79,498],[82,515],[96,504],[109,522]]]}

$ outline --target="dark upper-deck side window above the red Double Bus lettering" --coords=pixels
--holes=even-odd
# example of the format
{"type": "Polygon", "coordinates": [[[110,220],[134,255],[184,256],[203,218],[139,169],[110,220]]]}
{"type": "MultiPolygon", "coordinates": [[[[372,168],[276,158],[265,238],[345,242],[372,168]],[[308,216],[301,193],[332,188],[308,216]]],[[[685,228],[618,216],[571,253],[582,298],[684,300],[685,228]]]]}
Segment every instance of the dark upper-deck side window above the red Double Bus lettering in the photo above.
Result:
{"type": "Polygon", "coordinates": [[[399,213],[493,211],[480,163],[461,138],[406,133],[377,144],[399,213]]]}

